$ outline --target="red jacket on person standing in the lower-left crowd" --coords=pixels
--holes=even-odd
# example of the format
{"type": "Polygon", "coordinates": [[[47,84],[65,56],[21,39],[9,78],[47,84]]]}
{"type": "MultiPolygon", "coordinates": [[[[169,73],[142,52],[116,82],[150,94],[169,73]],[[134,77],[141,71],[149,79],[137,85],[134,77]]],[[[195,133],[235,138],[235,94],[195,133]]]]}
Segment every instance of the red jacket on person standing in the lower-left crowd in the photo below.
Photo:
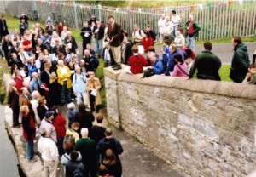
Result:
{"type": "Polygon", "coordinates": [[[66,136],[66,123],[67,121],[64,117],[61,116],[61,113],[58,113],[58,115],[52,121],[52,124],[55,127],[57,138],[64,138],[66,136]]]}

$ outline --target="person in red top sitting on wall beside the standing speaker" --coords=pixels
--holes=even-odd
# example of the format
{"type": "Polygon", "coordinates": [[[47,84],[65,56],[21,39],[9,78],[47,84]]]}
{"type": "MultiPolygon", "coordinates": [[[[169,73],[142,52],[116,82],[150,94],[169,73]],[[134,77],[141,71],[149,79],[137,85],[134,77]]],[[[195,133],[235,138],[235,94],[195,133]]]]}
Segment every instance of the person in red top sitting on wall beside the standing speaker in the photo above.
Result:
{"type": "Polygon", "coordinates": [[[148,66],[147,60],[143,55],[138,54],[137,45],[134,45],[131,50],[133,55],[128,60],[128,66],[130,67],[126,67],[125,72],[130,74],[143,73],[143,66],[148,66]]]}

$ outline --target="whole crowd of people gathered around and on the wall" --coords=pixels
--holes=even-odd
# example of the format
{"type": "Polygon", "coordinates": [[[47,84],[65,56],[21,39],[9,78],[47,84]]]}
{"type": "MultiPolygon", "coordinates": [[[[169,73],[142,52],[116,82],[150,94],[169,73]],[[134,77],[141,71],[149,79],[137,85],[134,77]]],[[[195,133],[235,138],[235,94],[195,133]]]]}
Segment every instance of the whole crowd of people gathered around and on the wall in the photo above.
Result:
{"type": "MultiPolygon", "coordinates": [[[[172,10],[172,17],[162,14],[158,21],[161,54],[154,49],[157,34],[146,26],[134,24],[131,38],[128,32],[108,16],[108,25],[92,16],[84,21],[80,36],[83,56],[72,32],[61,22],[54,26],[50,17],[45,26],[28,25],[26,14],[20,16],[20,25],[10,35],[4,17],[0,20],[1,55],[7,61],[12,75],[8,104],[13,111],[13,127],[22,128],[26,139],[27,160],[34,162],[33,140],[39,128],[41,138],[38,151],[44,161],[44,176],[55,176],[58,156],[66,167],[66,176],[122,175],[119,154],[123,148],[112,136],[110,128],[93,125],[94,111],[99,112],[102,84],[96,69],[102,58],[104,66],[122,69],[130,74],[143,73],[171,77],[221,80],[218,70],[221,61],[212,54],[212,43],[206,42],[201,54],[195,56],[195,38],[201,30],[192,15],[185,24],[186,38],[180,28],[181,19],[172,10]],[[187,40],[185,40],[187,39],[187,40]],[[187,43],[187,44],[186,44],[187,43]],[[74,99],[78,109],[73,104],[74,99]],[[67,104],[68,123],[58,106],[67,104]],[[90,111],[87,111],[89,110],[90,111]],[[67,128],[68,127],[68,128],[67,128]]],[[[241,37],[233,37],[234,56],[230,78],[236,82],[256,83],[256,66],[249,65],[247,46],[241,37]]]]}

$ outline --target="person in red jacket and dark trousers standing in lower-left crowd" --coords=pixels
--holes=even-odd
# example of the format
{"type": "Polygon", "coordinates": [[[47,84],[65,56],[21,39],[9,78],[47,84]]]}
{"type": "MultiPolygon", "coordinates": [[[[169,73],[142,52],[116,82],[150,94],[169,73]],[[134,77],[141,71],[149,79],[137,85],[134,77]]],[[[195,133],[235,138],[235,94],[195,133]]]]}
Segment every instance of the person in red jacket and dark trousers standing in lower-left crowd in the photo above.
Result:
{"type": "Polygon", "coordinates": [[[62,117],[61,112],[59,112],[57,109],[54,110],[55,115],[54,119],[52,121],[53,126],[55,127],[55,131],[57,134],[57,146],[58,146],[58,151],[59,154],[62,156],[65,152],[63,150],[63,140],[64,137],[66,136],[66,119],[62,117]]]}

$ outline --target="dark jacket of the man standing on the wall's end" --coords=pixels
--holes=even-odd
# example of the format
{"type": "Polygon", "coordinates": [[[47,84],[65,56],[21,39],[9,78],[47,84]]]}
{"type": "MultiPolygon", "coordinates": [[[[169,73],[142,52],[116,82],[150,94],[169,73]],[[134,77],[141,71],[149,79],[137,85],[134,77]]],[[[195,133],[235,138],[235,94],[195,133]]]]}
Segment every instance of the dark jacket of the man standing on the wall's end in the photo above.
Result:
{"type": "Polygon", "coordinates": [[[119,47],[121,45],[121,26],[114,22],[112,30],[110,30],[110,25],[108,25],[108,37],[111,40],[113,37],[113,41],[110,42],[110,46],[119,47]]]}

